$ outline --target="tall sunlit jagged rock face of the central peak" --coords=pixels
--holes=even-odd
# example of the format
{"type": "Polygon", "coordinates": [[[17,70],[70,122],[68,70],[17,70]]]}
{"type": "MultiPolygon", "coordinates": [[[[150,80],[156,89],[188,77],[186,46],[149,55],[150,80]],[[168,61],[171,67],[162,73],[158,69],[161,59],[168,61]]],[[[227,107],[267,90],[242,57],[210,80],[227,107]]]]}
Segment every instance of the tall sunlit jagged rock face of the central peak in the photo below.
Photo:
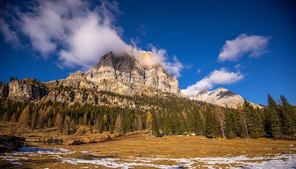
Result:
{"type": "MultiPolygon", "coordinates": [[[[143,57],[151,55],[149,52],[142,54],[143,57]]],[[[79,72],[78,76],[74,74],[68,79],[81,78],[82,73],[79,72]]],[[[95,83],[99,89],[120,94],[139,94],[143,92],[143,87],[148,86],[177,95],[181,94],[176,76],[172,77],[169,72],[162,69],[160,64],[142,66],[139,60],[127,53],[120,57],[114,57],[112,52],[102,56],[100,61],[85,73],[85,78],[95,83]],[[147,86],[142,86],[141,89],[138,84],[147,86]]]]}

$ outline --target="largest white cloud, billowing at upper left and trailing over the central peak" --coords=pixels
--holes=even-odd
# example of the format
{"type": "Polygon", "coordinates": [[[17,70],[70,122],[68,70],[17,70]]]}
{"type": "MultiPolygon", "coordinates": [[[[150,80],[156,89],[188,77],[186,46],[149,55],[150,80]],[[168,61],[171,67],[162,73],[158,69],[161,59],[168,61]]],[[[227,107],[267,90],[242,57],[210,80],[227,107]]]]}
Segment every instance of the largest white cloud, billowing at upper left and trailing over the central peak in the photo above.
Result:
{"type": "MultiPolygon", "coordinates": [[[[136,46],[140,39],[131,39],[131,44],[127,44],[122,40],[123,28],[115,25],[115,15],[122,14],[118,2],[100,2],[101,5],[94,6],[87,0],[33,1],[28,3],[30,10],[26,12],[12,7],[13,24],[0,19],[0,30],[9,43],[19,42],[19,35],[25,35],[32,48],[45,59],[57,54],[57,65],[61,69],[87,70],[110,51],[117,56],[124,52],[141,55],[142,50],[136,46]],[[15,27],[16,31],[10,27],[15,27]]],[[[141,24],[141,28],[145,25],[141,24]]],[[[151,52],[153,58],[142,59],[141,64],[159,63],[176,76],[181,76],[181,70],[186,68],[176,56],[170,62],[164,49],[151,47],[151,52]]]]}

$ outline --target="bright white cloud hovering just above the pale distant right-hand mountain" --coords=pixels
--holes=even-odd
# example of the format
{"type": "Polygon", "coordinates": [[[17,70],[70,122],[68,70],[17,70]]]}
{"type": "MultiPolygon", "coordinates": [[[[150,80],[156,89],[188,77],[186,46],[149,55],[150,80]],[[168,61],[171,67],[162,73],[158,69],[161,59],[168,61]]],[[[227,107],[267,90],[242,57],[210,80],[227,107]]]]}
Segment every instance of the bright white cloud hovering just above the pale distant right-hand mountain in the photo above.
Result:
{"type": "Polygon", "coordinates": [[[221,70],[214,70],[209,76],[204,77],[195,84],[189,85],[181,91],[185,95],[193,95],[199,90],[212,89],[215,84],[233,84],[241,81],[242,79],[244,79],[244,75],[242,73],[229,72],[227,69],[221,68],[221,70]]]}

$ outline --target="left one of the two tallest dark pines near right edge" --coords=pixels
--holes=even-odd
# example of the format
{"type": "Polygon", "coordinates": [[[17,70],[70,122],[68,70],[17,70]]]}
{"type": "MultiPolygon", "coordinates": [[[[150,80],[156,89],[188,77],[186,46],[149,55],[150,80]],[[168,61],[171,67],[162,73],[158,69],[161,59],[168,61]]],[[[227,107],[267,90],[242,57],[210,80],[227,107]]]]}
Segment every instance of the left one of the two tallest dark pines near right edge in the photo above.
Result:
{"type": "Polygon", "coordinates": [[[275,139],[283,138],[283,134],[281,131],[280,116],[276,109],[277,105],[269,94],[267,94],[267,98],[267,115],[270,123],[271,134],[275,139]]]}

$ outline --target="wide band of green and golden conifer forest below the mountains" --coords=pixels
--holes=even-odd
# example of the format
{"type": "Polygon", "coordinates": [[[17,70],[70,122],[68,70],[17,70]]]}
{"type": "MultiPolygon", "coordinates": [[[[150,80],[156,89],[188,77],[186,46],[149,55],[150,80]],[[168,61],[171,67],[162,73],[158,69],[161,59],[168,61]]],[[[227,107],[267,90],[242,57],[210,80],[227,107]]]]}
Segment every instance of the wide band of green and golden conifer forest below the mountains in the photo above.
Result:
{"type": "Polygon", "coordinates": [[[296,109],[281,95],[279,103],[268,94],[268,106],[255,109],[247,100],[237,109],[224,108],[202,101],[168,94],[125,96],[108,91],[102,94],[134,101],[135,109],[75,103],[32,103],[0,100],[3,121],[18,122],[24,130],[57,126],[65,135],[75,133],[76,125],[88,125],[91,132],[132,132],[151,129],[153,135],[196,133],[209,138],[234,139],[262,136],[296,139],[296,109]],[[145,110],[139,105],[150,107],[145,110]]]}

